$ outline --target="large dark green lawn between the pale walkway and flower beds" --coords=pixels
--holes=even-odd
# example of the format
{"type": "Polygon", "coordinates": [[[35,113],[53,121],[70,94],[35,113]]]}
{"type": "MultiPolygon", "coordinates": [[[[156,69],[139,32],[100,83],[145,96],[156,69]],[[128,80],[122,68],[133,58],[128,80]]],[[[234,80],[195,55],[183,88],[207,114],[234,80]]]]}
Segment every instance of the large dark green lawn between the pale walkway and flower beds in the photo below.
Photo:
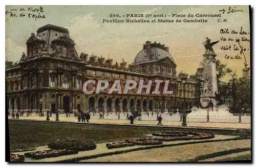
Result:
{"type": "MultiPolygon", "coordinates": [[[[161,128],[9,120],[10,149],[28,149],[67,136],[89,138],[95,143],[145,137],[161,128]]],[[[165,130],[167,130],[165,128],[165,130]]]]}

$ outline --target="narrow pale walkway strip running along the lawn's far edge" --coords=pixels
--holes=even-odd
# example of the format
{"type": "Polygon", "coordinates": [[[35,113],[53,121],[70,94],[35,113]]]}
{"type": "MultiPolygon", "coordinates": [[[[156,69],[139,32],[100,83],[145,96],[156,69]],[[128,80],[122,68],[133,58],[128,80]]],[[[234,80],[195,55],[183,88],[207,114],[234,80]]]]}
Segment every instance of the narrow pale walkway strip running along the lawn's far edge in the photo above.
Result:
{"type": "MultiPolygon", "coordinates": [[[[11,119],[11,117],[9,117],[11,119]]],[[[41,120],[46,121],[46,117],[38,116],[23,116],[19,117],[21,120],[41,120]]],[[[50,121],[55,121],[55,117],[50,117],[50,121]]],[[[74,116],[59,117],[60,122],[78,122],[74,116]]],[[[90,123],[99,124],[130,124],[129,120],[110,120],[110,119],[91,119],[90,123]]],[[[134,120],[135,125],[157,125],[158,121],[137,121],[134,120]]],[[[181,121],[162,121],[163,126],[182,126],[181,121]]],[[[187,122],[187,127],[211,127],[211,128],[245,128],[250,129],[250,123],[217,123],[217,122],[187,122]]]]}

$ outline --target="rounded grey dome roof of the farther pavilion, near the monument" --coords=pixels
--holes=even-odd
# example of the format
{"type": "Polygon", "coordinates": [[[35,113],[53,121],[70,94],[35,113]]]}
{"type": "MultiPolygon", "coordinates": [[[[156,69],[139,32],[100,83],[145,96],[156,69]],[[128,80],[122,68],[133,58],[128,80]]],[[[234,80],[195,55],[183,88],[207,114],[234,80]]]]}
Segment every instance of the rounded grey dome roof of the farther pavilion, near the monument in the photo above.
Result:
{"type": "Polygon", "coordinates": [[[134,63],[161,60],[166,57],[174,63],[172,55],[168,52],[168,47],[164,47],[164,45],[156,42],[151,44],[150,41],[147,41],[146,45],[144,44],[143,50],[136,55],[134,63]]]}

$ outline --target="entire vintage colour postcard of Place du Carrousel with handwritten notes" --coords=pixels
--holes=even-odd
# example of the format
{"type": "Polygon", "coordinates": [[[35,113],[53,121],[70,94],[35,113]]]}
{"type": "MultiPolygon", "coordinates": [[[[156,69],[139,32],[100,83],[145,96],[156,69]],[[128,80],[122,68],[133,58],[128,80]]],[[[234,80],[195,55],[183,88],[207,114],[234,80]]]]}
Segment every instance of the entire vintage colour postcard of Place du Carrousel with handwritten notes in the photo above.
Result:
{"type": "Polygon", "coordinates": [[[6,161],[251,162],[250,11],[6,6],[6,161]]]}

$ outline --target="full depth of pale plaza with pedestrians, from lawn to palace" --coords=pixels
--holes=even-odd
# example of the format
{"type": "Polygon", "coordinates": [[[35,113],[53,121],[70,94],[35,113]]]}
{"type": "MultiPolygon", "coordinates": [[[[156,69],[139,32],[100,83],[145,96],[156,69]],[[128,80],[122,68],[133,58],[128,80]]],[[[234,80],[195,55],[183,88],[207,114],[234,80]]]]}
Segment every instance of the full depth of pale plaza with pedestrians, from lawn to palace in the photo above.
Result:
{"type": "MultiPolygon", "coordinates": [[[[125,119],[125,116],[121,116],[119,115],[120,119],[118,119],[118,115],[116,114],[112,114],[112,119],[110,119],[110,117],[108,118],[108,116],[104,116],[104,119],[99,119],[99,115],[95,114],[93,116],[93,114],[91,115],[91,119],[90,119],[90,123],[102,123],[102,124],[130,124],[129,120],[125,119]],[[114,119],[113,117],[117,117],[116,119],[114,119]]],[[[144,116],[144,117],[149,117],[152,120],[143,120],[143,116],[142,116],[142,120],[134,120],[134,124],[136,125],[157,125],[158,121],[156,120],[157,116],[144,116]],[[155,118],[155,119],[154,119],[155,118]]],[[[163,117],[164,120],[162,121],[163,126],[182,126],[182,122],[180,121],[180,116],[169,116],[169,120],[165,121],[167,116],[163,117]],[[173,119],[173,120],[171,120],[173,119]]],[[[9,119],[11,119],[11,117],[9,117],[9,119]]],[[[22,116],[19,119],[23,119],[23,120],[41,120],[41,121],[45,121],[46,117],[39,117],[39,116],[22,116]]],[[[52,114],[52,117],[50,117],[50,121],[55,121],[55,114],[52,114]]],[[[214,122],[214,121],[218,121],[217,118],[210,118],[209,119],[210,122],[206,122],[206,119],[204,118],[191,118],[190,120],[187,119],[187,126],[189,127],[214,127],[214,128],[246,128],[246,129],[250,129],[251,128],[251,124],[250,124],[250,117],[248,116],[243,116],[242,117],[242,123],[238,123],[239,121],[239,117],[234,117],[234,118],[230,118],[230,119],[226,119],[225,120],[221,120],[222,122],[214,122]],[[231,122],[233,121],[233,122],[231,122]],[[234,122],[236,121],[236,122],[234,122]]],[[[220,120],[220,119],[219,119],[220,120]]],[[[78,122],[77,118],[74,117],[73,114],[70,115],[70,117],[66,117],[66,114],[61,114],[59,115],[59,121],[60,122],[78,122]]]]}

